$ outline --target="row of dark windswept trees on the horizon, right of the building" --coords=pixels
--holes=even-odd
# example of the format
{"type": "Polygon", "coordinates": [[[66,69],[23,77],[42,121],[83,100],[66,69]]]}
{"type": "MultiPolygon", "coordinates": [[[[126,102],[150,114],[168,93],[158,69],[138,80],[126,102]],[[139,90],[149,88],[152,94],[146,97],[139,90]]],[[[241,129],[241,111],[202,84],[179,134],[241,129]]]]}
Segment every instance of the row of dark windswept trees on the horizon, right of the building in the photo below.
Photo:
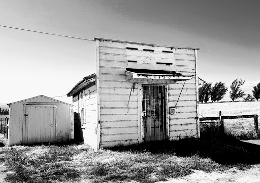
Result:
{"type": "MultiPolygon", "coordinates": [[[[246,94],[242,91],[241,86],[245,83],[242,79],[235,79],[230,85],[230,98],[234,102],[236,99],[245,97],[246,94]]],[[[200,103],[208,103],[211,99],[212,102],[219,102],[228,91],[228,87],[221,81],[216,82],[214,86],[211,82],[204,83],[201,87],[199,87],[199,102],[200,103]]],[[[260,99],[260,82],[253,86],[252,90],[253,96],[248,94],[244,99],[244,101],[254,101],[255,99],[258,101],[260,99]]]]}

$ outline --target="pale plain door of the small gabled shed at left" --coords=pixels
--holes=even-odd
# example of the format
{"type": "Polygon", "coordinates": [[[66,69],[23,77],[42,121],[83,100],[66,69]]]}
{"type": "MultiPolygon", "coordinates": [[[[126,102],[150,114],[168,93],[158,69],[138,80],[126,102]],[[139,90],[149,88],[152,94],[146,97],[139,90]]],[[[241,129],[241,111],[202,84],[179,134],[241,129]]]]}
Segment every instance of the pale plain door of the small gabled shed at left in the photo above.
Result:
{"type": "Polygon", "coordinates": [[[56,105],[26,105],[25,143],[53,143],[56,136],[56,105]]]}

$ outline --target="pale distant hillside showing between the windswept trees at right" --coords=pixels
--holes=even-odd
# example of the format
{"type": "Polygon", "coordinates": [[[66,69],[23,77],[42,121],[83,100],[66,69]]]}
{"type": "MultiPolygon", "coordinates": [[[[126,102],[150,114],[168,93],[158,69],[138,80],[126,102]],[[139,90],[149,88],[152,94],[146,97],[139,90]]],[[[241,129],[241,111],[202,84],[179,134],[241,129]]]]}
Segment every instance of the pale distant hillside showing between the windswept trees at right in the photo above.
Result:
{"type": "MultiPolygon", "coordinates": [[[[244,91],[244,93],[247,94],[251,94],[253,96],[252,90],[253,90],[253,86],[256,86],[258,83],[260,82],[260,80],[258,81],[252,81],[252,82],[245,82],[242,86],[241,89],[242,91],[244,91]]],[[[226,85],[229,86],[228,91],[226,92],[224,98],[220,101],[220,102],[228,102],[228,101],[232,101],[230,98],[230,84],[226,85]]],[[[243,101],[243,98],[237,99],[235,101],[243,101]]]]}

